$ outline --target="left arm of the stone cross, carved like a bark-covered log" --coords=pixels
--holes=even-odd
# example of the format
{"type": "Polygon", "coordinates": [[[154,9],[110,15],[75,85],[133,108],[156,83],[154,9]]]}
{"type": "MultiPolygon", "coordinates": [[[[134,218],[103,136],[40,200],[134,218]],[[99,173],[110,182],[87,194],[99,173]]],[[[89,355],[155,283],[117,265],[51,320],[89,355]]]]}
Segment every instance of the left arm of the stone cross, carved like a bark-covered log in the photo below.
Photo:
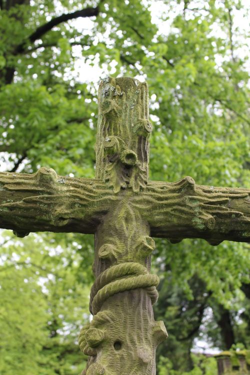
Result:
{"type": "Polygon", "coordinates": [[[63,177],[51,168],[0,173],[0,227],[18,236],[31,231],[94,233],[110,192],[100,180],[63,177]]]}

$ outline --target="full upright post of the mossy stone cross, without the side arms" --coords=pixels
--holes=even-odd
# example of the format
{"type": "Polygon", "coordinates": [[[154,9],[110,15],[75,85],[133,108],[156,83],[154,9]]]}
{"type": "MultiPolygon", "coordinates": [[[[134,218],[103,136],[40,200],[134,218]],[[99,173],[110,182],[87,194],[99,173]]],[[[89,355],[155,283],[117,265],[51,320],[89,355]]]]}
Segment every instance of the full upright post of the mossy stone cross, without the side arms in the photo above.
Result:
{"type": "Polygon", "coordinates": [[[149,134],[146,83],[107,78],[98,93],[96,178],[120,199],[95,233],[93,320],[82,329],[80,347],[89,355],[87,375],[154,375],[155,349],[166,336],[153,319],[158,277],[149,273],[154,240],[136,209],[148,180],[149,134]]]}

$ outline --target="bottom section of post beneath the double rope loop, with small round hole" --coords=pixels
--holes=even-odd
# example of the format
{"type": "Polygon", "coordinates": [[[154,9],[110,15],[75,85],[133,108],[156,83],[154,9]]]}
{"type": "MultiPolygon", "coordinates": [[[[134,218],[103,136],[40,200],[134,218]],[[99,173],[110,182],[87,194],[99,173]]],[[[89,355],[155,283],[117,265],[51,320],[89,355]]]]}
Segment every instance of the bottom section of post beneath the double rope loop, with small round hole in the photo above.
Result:
{"type": "Polygon", "coordinates": [[[81,350],[90,355],[87,375],[155,373],[155,348],[166,337],[162,321],[155,322],[144,289],[114,294],[79,336],[81,350]]]}

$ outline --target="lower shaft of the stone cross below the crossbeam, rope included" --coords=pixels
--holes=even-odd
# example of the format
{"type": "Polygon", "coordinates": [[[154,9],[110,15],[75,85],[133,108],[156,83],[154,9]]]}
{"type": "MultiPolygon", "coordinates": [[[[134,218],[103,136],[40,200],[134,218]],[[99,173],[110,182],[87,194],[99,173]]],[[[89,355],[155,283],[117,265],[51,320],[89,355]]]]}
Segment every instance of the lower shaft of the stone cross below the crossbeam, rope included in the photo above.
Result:
{"type": "Polygon", "coordinates": [[[153,319],[159,282],[149,273],[154,240],[146,220],[129,204],[132,195],[121,194],[95,233],[94,318],[79,336],[80,348],[91,356],[87,375],[155,374],[155,349],[167,336],[163,322],[153,319]],[[105,319],[96,324],[99,317],[105,319]]]}

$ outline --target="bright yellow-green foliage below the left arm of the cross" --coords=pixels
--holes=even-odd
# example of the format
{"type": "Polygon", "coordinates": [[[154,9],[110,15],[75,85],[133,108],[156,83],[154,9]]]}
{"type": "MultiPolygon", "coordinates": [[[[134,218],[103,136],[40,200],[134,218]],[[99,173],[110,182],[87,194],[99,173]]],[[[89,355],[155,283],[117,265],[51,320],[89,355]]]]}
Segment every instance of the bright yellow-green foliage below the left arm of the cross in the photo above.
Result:
{"type": "MultiPolygon", "coordinates": [[[[29,235],[1,245],[2,374],[73,374],[83,366],[78,332],[88,320],[89,274],[82,245],[63,235],[29,235]],[[84,257],[84,256],[83,256],[84,257]]],[[[89,245],[88,245],[89,246],[89,245]]],[[[91,249],[90,249],[91,250],[91,249]]]]}

